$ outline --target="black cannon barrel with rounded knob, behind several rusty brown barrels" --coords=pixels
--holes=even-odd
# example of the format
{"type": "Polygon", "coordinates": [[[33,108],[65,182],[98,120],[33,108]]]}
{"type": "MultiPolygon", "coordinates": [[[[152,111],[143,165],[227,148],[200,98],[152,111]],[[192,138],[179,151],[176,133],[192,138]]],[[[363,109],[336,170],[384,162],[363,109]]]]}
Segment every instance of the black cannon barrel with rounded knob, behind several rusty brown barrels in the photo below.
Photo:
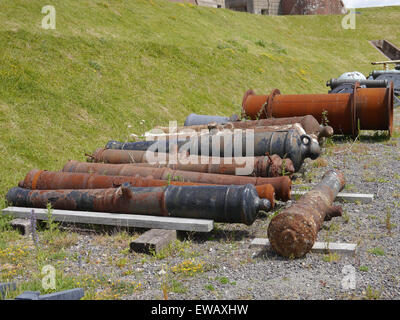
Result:
{"type": "MultiPolygon", "coordinates": [[[[188,140],[175,141],[141,141],[118,142],[110,141],[106,149],[142,150],[146,142],[151,152],[169,152],[170,146],[177,146],[179,153],[199,156],[248,157],[276,154],[281,158],[289,158],[297,172],[304,159],[315,160],[321,154],[321,148],[316,139],[304,133],[304,129],[269,131],[262,128],[238,130],[233,133],[217,132],[216,134],[192,137],[188,140]],[[249,132],[251,131],[251,132],[249,132]],[[137,149],[139,148],[139,149],[137,149]]],[[[176,149],[171,149],[171,151],[176,149]]]]}

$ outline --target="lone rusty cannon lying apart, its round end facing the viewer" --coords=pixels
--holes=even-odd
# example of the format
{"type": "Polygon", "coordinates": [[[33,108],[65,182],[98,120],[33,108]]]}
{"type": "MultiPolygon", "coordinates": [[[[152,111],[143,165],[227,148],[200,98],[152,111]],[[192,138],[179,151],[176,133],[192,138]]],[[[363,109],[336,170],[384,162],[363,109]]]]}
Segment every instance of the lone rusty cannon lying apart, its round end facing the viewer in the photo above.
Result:
{"type": "Polygon", "coordinates": [[[272,248],[284,257],[299,258],[309,252],[323,222],[342,214],[342,208],[332,204],[344,186],[343,174],[330,170],[316,187],[276,215],[268,226],[272,248]]]}

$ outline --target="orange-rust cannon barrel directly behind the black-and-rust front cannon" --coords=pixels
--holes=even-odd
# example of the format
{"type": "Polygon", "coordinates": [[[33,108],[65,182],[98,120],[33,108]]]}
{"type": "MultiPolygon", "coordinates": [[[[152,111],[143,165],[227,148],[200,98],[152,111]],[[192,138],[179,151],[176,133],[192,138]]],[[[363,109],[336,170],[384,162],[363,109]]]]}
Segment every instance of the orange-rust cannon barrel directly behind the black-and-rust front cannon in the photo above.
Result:
{"type": "MultiPolygon", "coordinates": [[[[94,173],[53,172],[34,169],[26,175],[24,180],[19,182],[18,186],[32,190],[108,189],[120,187],[124,183],[129,183],[133,187],[210,185],[196,182],[155,180],[137,176],[105,176],[94,173]]],[[[275,206],[275,189],[272,185],[257,185],[255,188],[260,198],[268,199],[271,206],[275,206]]]]}

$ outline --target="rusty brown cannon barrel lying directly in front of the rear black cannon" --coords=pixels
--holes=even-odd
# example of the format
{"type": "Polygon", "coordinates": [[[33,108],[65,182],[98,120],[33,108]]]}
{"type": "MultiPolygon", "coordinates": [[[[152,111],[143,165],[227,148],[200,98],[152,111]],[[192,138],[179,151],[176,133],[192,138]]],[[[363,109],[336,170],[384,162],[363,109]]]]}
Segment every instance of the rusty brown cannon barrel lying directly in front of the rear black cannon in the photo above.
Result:
{"type": "Polygon", "coordinates": [[[88,156],[90,162],[112,164],[136,163],[152,167],[167,167],[174,170],[205,173],[252,175],[256,177],[279,177],[294,173],[290,159],[282,160],[278,155],[265,157],[201,157],[183,153],[157,153],[139,150],[114,150],[99,148],[88,156]],[[248,168],[248,170],[246,169],[248,168]],[[243,169],[243,170],[239,170],[243,169]]]}

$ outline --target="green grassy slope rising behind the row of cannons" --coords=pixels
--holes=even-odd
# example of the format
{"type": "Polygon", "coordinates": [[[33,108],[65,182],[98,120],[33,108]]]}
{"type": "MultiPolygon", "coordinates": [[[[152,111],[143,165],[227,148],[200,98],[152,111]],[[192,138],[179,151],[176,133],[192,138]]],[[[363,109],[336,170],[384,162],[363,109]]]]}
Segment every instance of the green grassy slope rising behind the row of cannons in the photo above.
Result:
{"type": "Polygon", "coordinates": [[[367,40],[400,45],[400,7],[363,9],[343,30],[341,16],[52,0],[57,29],[44,30],[47,4],[0,2],[0,198],[30,169],[59,170],[109,139],[238,112],[248,88],[327,92],[329,78],[383,58],[367,40]]]}

